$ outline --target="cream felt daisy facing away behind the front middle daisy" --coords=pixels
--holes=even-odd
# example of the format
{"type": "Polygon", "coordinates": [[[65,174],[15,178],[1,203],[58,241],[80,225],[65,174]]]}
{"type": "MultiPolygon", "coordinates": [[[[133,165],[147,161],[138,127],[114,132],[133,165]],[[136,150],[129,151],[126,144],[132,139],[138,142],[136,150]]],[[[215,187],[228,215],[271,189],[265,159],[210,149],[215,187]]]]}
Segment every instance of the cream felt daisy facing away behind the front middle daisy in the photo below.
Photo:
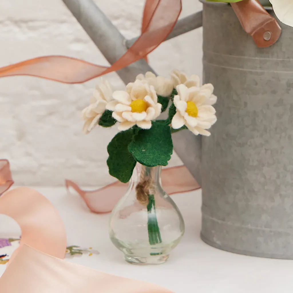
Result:
{"type": "Polygon", "coordinates": [[[164,76],[156,76],[148,71],[145,76],[139,74],[136,79],[146,80],[151,86],[154,86],[157,95],[169,97],[173,91],[173,82],[164,76]]]}

